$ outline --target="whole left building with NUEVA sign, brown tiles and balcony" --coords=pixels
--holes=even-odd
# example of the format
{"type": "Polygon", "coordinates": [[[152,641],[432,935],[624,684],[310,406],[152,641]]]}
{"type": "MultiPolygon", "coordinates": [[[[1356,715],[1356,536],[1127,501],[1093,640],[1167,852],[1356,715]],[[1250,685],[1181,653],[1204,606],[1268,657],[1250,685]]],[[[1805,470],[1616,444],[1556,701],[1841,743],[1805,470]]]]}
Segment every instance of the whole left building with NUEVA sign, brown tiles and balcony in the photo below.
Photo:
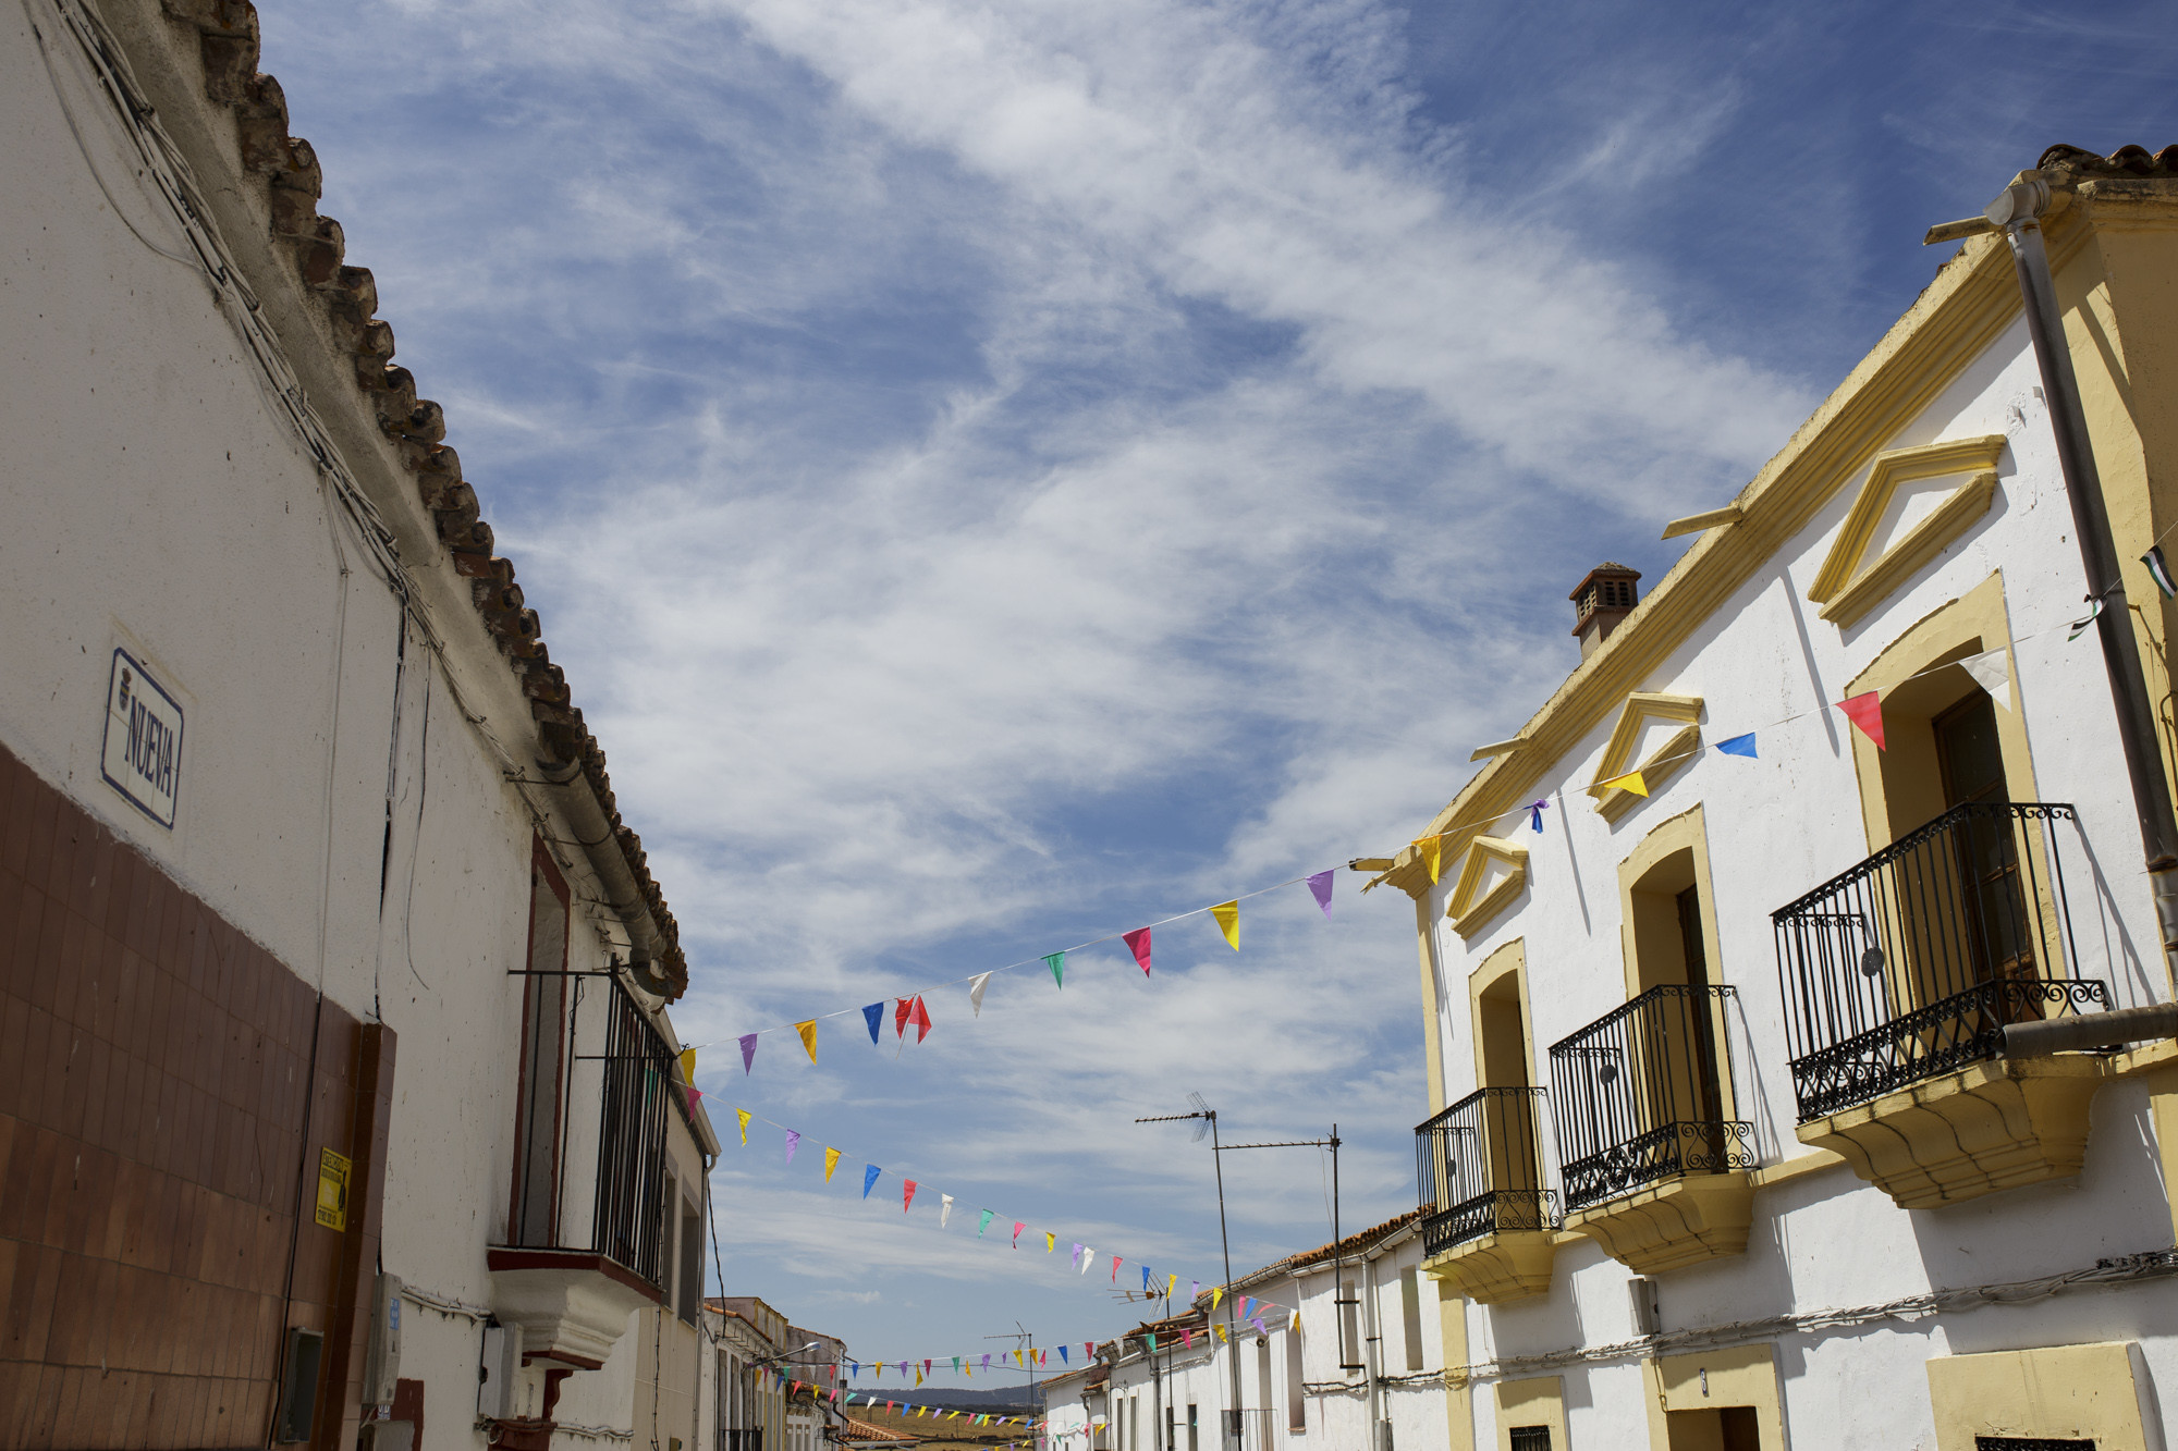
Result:
{"type": "Polygon", "coordinates": [[[677,928],[255,26],[0,17],[0,1442],[693,1444],[677,928]]]}

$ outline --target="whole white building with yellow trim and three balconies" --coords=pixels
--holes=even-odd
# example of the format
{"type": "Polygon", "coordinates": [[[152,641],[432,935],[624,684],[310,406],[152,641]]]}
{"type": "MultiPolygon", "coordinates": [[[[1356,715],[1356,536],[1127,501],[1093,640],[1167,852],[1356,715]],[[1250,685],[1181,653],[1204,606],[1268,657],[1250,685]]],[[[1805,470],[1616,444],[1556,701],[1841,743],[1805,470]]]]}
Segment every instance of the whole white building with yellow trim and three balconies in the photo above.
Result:
{"type": "MultiPolygon", "coordinates": [[[[2169,769],[2178,179],[2045,163],[2169,769]]],[[[1579,669],[1372,863],[1420,924],[1451,1447],[2163,1447],[2171,1044],[2004,1048],[2171,1000],[2004,240],[1692,527],[1638,603],[1583,580],[1579,669]]]]}

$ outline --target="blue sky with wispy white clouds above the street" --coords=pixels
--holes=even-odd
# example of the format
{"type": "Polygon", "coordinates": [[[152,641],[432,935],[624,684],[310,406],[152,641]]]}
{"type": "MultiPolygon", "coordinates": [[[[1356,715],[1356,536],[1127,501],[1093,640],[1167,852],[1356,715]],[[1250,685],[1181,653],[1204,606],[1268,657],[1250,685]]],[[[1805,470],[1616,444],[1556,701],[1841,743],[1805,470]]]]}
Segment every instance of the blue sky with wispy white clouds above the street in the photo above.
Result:
{"type": "MultiPolygon", "coordinates": [[[[703,1041],[1403,843],[1575,664],[1575,580],[1668,566],[1660,523],[1912,303],[1930,222],[2052,142],[2178,137],[2165,20],[268,0],[264,65],[703,1041]]],[[[714,1105],[808,1135],[727,1148],[727,1290],[862,1357],[1111,1336],[1072,1242],[1215,1277],[1207,1150],[1130,1122],[1189,1089],[1235,1137],[1337,1120],[1346,1224],[1409,1207],[1414,915],[1357,885],[1248,902],[1239,954],[1161,928],[1148,980],[1111,943],[980,1017],[934,991],[919,1046],[708,1050],[714,1105]]],[[[1329,1237],[1318,1159],[1233,1159],[1237,1264],[1329,1237]]]]}

